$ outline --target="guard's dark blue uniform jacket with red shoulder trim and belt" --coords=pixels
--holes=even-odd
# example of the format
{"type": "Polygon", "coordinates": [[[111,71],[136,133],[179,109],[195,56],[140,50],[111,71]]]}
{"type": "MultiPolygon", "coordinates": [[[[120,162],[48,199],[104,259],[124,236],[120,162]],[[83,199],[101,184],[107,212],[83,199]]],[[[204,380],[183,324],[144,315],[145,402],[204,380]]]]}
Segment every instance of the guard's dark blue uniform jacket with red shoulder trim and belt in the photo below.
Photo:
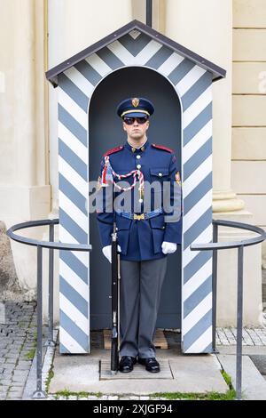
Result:
{"type": "MultiPolygon", "coordinates": [[[[174,151],[166,147],[155,145],[149,141],[141,149],[132,148],[128,141],[123,146],[107,151],[110,164],[113,171],[118,174],[126,174],[132,170],[139,170],[144,174],[145,182],[149,184],[156,181],[151,194],[145,185],[144,202],[138,203],[139,192],[137,186],[129,191],[120,191],[115,188],[112,197],[112,185],[108,187],[99,187],[98,189],[98,228],[103,246],[111,245],[113,233],[113,221],[116,221],[118,244],[121,246],[121,260],[145,261],[154,260],[166,255],[161,252],[163,241],[181,244],[182,240],[182,192],[180,180],[180,168],[177,165],[174,151]],[[161,147],[161,148],[160,148],[161,147]],[[137,167],[138,165],[138,167],[137,167]],[[175,211],[169,212],[164,204],[163,182],[168,182],[168,202],[175,211]],[[134,191],[135,190],[135,191],[134,191]],[[175,193],[174,193],[175,190],[175,193]],[[131,196],[131,203],[123,209],[113,206],[113,199],[131,196]],[[134,193],[137,196],[134,200],[134,193]],[[148,197],[151,196],[151,205],[145,205],[148,197]],[[135,206],[134,206],[135,202],[135,206]],[[111,206],[110,206],[111,205],[111,206]],[[108,207],[108,210],[106,208],[108,207]],[[113,210],[113,207],[115,210],[113,210]],[[148,207],[148,210],[146,210],[148,207]],[[120,212],[127,213],[145,213],[160,209],[162,213],[145,220],[133,220],[122,217],[120,212]],[[111,211],[111,212],[110,212],[111,211]],[[116,213],[119,212],[119,213],[116,213]]],[[[101,161],[100,176],[105,165],[105,158],[101,161]]],[[[129,186],[133,182],[133,175],[124,179],[113,180],[123,186],[129,186]],[[125,183],[126,181],[126,183],[125,183]]],[[[138,183],[137,183],[138,184],[138,183]]],[[[154,183],[153,183],[154,184],[154,183]]],[[[150,199],[149,199],[150,202],[150,199]]]]}

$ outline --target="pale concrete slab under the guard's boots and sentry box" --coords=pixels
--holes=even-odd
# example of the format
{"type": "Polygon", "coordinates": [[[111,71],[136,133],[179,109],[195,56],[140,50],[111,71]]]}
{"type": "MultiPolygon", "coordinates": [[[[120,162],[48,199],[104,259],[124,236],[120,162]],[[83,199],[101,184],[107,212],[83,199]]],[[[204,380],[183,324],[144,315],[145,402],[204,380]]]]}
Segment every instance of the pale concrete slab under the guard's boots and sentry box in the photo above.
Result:
{"type": "Polygon", "coordinates": [[[49,393],[63,391],[115,395],[154,393],[225,393],[228,390],[213,355],[183,355],[179,350],[157,350],[159,374],[137,365],[130,374],[109,376],[106,365],[110,351],[92,350],[89,355],[60,355],[56,352],[49,393]]]}

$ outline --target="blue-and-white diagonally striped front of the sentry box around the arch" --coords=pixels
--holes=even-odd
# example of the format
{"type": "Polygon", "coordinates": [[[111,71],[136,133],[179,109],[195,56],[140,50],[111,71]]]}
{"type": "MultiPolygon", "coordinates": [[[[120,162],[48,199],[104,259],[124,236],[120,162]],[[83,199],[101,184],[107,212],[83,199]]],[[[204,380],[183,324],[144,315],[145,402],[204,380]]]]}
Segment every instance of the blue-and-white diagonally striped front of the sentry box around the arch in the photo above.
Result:
{"type": "MultiPolygon", "coordinates": [[[[182,342],[184,353],[212,350],[212,253],[192,243],[212,241],[212,82],[207,61],[136,21],[115,40],[47,77],[59,86],[59,240],[89,244],[88,156],[90,97],[114,70],[145,67],[173,85],[182,109],[182,342]],[[196,58],[195,58],[196,57],[196,58]],[[56,76],[56,77],[55,77],[56,76]]],[[[210,63],[209,63],[210,64],[210,63]]],[[[213,64],[214,68],[215,64],[213,64]]],[[[55,68],[56,69],[56,68],[55,68]]],[[[221,71],[223,68],[220,68],[221,71]]],[[[224,70],[223,70],[224,71],[224,70]]],[[[60,352],[90,352],[89,254],[60,252],[60,352]]]]}

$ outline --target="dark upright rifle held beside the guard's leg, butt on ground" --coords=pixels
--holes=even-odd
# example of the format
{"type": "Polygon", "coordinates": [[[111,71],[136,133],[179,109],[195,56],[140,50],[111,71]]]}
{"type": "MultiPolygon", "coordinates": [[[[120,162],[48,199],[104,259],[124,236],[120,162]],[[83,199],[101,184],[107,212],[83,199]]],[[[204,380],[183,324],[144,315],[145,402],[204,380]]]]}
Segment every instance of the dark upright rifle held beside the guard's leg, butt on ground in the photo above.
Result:
{"type": "Polygon", "coordinates": [[[120,297],[120,254],[117,251],[116,223],[113,222],[112,234],[112,345],[111,345],[111,373],[118,371],[119,345],[119,297],[120,297]]]}

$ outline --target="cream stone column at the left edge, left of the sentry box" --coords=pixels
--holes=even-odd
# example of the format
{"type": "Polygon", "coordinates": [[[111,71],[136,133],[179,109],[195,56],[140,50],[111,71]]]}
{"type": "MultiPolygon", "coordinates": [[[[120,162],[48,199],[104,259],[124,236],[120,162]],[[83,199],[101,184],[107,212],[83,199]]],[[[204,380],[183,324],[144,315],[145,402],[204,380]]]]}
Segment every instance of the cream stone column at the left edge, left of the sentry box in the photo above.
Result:
{"type": "MultiPolygon", "coordinates": [[[[0,1],[0,220],[50,212],[45,102],[45,0],[0,1]]],[[[27,230],[27,236],[42,231],[27,230]]],[[[35,249],[12,243],[20,286],[35,287],[35,249]]]]}

